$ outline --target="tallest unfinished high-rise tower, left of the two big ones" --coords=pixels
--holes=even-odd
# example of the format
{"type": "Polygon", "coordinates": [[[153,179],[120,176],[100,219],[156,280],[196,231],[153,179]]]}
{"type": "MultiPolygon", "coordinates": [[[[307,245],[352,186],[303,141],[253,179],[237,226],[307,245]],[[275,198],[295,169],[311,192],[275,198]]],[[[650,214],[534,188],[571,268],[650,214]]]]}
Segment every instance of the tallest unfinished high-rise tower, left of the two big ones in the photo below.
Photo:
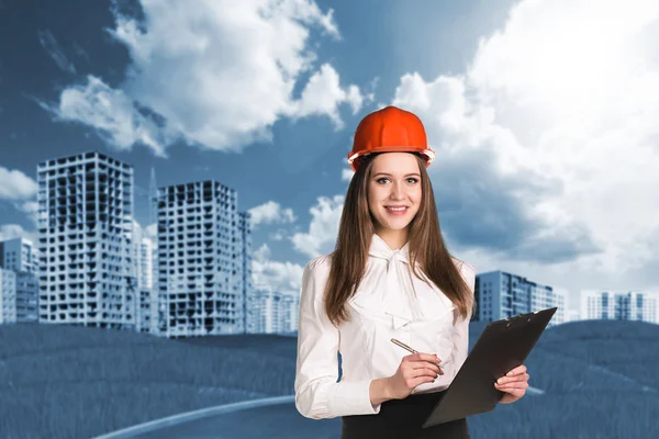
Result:
{"type": "Polygon", "coordinates": [[[38,164],[40,323],[134,329],[133,168],[98,151],[38,164]]]}

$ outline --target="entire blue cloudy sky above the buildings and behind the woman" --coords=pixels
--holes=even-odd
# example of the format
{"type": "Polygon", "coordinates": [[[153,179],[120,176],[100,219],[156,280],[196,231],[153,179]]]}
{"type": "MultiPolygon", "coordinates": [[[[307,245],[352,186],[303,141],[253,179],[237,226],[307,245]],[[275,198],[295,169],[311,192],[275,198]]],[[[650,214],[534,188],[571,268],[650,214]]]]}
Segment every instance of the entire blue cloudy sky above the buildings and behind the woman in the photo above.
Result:
{"type": "Polygon", "coordinates": [[[134,167],[143,226],[152,167],[235,188],[258,282],[294,291],[332,250],[355,126],[394,103],[477,271],[657,291],[652,3],[0,1],[0,234],[34,234],[38,161],[98,149],[134,167]]]}

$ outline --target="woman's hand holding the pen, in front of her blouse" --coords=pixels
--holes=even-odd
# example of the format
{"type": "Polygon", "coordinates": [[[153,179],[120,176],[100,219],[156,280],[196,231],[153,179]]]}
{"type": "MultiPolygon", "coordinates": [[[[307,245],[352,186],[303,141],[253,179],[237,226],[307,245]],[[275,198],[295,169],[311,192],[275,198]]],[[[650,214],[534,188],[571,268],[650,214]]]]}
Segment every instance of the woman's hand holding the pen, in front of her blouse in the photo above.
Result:
{"type": "Polygon", "coordinates": [[[434,353],[412,353],[403,357],[393,375],[389,378],[389,394],[394,399],[402,399],[423,383],[432,383],[444,375],[439,367],[442,360],[434,353]]]}

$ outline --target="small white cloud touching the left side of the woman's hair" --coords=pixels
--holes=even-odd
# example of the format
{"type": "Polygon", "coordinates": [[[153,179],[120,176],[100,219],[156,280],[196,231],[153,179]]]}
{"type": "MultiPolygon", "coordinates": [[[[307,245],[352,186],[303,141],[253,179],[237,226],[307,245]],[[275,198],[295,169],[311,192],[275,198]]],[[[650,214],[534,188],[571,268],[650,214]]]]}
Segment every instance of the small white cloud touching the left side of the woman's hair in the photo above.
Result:
{"type": "Polygon", "coordinates": [[[331,252],[338,236],[343,204],[343,195],[319,198],[317,204],[309,210],[312,215],[309,232],[295,233],[291,237],[295,250],[311,258],[331,252]]]}

